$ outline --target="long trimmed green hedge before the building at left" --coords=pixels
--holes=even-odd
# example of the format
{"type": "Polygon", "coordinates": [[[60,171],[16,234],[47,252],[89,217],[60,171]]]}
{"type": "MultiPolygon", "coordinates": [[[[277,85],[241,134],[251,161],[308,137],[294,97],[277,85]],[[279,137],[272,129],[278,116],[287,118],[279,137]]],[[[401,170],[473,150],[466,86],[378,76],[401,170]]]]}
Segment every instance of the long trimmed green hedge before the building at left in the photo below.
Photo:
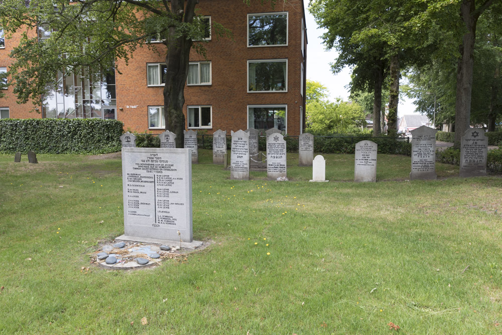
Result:
{"type": "Polygon", "coordinates": [[[105,154],[120,151],[123,124],[101,119],[2,119],[0,153],[105,154]]]}

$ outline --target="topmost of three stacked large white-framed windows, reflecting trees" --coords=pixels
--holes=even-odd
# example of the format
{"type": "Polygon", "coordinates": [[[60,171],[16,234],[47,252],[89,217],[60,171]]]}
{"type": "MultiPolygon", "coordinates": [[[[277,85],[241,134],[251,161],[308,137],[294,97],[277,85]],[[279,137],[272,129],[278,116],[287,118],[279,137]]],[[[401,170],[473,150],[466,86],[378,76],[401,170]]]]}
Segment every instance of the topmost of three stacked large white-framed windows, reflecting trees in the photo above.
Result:
{"type": "Polygon", "coordinates": [[[247,46],[288,44],[288,13],[247,15],[247,46]]]}

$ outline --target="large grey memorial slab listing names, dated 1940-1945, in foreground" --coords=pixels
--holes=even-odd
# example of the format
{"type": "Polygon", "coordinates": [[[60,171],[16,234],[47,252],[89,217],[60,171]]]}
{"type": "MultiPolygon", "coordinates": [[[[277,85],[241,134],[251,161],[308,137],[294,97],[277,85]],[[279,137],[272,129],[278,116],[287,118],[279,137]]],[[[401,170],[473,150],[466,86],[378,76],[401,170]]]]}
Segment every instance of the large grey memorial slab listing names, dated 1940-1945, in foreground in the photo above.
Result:
{"type": "Polygon", "coordinates": [[[192,242],[191,175],[189,149],[123,148],[125,235],[192,242]]]}

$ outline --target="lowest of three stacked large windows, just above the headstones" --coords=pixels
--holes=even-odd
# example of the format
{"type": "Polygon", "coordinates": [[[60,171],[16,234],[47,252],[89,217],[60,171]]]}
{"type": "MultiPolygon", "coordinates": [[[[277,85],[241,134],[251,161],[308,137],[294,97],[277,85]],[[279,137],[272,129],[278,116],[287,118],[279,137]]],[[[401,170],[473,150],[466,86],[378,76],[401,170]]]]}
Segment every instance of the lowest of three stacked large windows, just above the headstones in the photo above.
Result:
{"type": "Polygon", "coordinates": [[[278,106],[247,106],[247,128],[266,131],[277,128],[286,132],[286,105],[278,106]]]}

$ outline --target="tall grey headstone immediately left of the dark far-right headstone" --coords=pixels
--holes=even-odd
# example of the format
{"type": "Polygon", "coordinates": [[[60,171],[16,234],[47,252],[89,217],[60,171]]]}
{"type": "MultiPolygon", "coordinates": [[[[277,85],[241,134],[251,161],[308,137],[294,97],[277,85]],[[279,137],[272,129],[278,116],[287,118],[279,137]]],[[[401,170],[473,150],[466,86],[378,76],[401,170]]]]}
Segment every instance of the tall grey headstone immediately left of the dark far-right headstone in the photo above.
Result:
{"type": "Polygon", "coordinates": [[[436,133],[437,130],[426,126],[411,131],[410,179],[437,179],[436,133]]]}

